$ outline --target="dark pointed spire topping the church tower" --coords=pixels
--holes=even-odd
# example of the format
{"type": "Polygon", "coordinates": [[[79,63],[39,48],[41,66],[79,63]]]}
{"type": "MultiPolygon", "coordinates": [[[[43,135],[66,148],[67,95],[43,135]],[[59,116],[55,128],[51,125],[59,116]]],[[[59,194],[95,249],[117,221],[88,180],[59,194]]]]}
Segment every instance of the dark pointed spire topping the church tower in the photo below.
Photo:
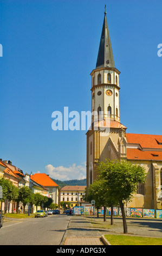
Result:
{"type": "Polygon", "coordinates": [[[107,66],[109,68],[115,68],[111,39],[109,36],[109,30],[106,17],[106,5],[105,5],[105,17],[103,20],[102,34],[100,39],[98,59],[96,62],[96,68],[107,66]]]}

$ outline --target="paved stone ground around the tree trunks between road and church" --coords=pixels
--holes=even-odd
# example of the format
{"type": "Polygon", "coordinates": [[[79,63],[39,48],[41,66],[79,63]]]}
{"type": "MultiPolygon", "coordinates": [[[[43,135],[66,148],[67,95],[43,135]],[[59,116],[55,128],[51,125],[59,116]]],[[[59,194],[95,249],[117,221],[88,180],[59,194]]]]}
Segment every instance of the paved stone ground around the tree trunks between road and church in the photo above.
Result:
{"type": "MultiPolygon", "coordinates": [[[[89,217],[89,221],[93,220],[93,216],[89,217]]],[[[114,224],[109,225],[108,229],[95,228],[89,221],[83,216],[71,216],[61,245],[109,245],[103,240],[103,234],[124,235],[121,217],[114,218],[114,224]]],[[[103,217],[100,221],[103,223],[103,217]]],[[[109,223],[110,219],[107,218],[107,224],[109,223]]],[[[162,238],[162,220],[127,218],[127,227],[128,235],[162,238]]]]}

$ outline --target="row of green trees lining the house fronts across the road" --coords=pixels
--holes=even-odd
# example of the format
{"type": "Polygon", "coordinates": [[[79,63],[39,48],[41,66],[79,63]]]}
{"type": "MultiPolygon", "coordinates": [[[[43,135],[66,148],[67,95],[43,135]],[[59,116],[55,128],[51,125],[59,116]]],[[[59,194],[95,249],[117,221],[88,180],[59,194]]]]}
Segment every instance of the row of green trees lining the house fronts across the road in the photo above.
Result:
{"type": "MultiPolygon", "coordinates": [[[[42,206],[43,208],[55,209],[57,206],[53,204],[53,200],[49,197],[45,197],[40,193],[32,193],[29,187],[16,187],[12,184],[9,179],[4,179],[3,177],[0,179],[0,185],[3,190],[3,198],[1,198],[1,202],[4,202],[5,199],[8,199],[9,202],[17,203],[17,213],[18,213],[18,205],[20,202],[23,204],[23,210],[25,211],[25,205],[29,203],[31,205],[31,209],[33,209],[33,205],[42,206]]],[[[2,204],[1,204],[2,206],[2,204]]]]}

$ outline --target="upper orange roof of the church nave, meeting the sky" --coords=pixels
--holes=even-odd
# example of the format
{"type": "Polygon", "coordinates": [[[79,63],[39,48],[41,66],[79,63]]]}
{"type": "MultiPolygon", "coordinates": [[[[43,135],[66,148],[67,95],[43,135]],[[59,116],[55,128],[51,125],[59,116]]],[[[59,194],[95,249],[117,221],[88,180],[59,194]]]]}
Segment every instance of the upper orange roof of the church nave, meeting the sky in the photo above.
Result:
{"type": "Polygon", "coordinates": [[[126,133],[126,138],[129,144],[140,144],[142,148],[162,149],[162,135],[126,133]]]}

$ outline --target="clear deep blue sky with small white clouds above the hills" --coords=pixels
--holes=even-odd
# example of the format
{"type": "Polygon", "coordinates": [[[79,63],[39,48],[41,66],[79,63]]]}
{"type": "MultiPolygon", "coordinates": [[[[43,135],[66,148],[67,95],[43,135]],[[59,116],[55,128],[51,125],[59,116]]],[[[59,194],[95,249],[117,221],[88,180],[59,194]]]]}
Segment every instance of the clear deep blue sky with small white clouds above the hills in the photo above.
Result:
{"type": "Polygon", "coordinates": [[[85,178],[86,131],[53,131],[51,113],[91,109],[105,4],[120,121],[129,133],[161,134],[161,1],[0,1],[0,158],[24,173],[85,178]]]}

